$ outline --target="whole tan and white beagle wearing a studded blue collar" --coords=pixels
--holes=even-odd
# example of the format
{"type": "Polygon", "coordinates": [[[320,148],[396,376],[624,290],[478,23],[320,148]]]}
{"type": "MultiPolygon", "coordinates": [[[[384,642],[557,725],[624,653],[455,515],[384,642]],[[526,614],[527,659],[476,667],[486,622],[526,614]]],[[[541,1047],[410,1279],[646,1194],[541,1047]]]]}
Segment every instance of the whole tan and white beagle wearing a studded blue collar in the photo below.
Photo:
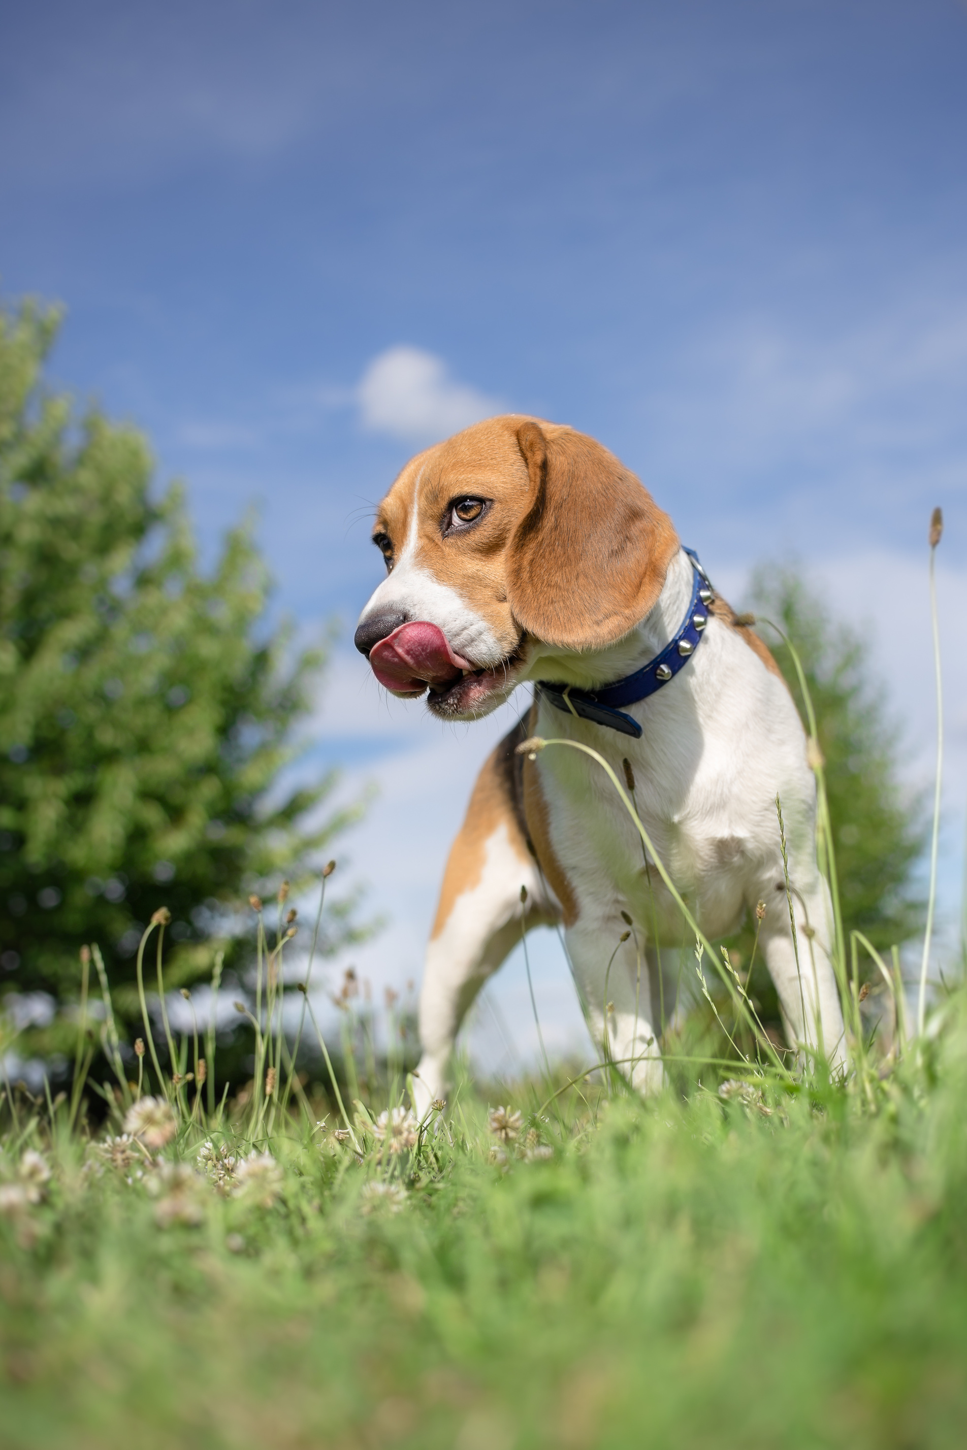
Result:
{"type": "Polygon", "coordinates": [[[491,418],[406,464],[373,541],[387,577],[355,645],[387,690],[425,695],[438,719],[473,721],[534,683],[529,712],[477,779],[444,874],[420,992],[418,1108],[444,1096],[460,1024],[522,929],[555,922],[599,1045],[636,1089],[663,1082],[674,982],[657,948],[683,944],[680,909],[600,766],[560,747],[522,757],[534,735],[590,745],[634,779],[639,818],[706,937],[767,903],[760,945],[789,1040],[841,1066],[796,706],[639,480],[571,428],[491,418]],[[808,928],[799,967],[777,795],[800,942],[808,928]]]}

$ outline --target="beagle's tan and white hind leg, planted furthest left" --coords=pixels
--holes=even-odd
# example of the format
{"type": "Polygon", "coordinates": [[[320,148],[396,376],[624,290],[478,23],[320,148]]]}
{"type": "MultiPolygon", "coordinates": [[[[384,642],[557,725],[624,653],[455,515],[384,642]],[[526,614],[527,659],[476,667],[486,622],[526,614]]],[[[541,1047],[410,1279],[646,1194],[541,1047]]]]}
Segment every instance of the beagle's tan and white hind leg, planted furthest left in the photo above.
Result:
{"type": "Polygon", "coordinates": [[[518,806],[513,750],[523,737],[522,722],[480,771],[444,873],[419,1003],[423,1056],[413,1088],[420,1115],[445,1095],[460,1024],[487,977],[520,941],[522,924],[529,931],[558,919],[518,806]]]}

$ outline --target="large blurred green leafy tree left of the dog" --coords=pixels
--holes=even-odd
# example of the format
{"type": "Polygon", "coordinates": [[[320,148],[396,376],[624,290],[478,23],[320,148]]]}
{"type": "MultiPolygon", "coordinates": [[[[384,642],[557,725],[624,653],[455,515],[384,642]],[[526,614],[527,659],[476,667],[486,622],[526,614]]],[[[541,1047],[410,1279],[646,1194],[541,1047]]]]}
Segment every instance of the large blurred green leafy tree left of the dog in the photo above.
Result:
{"type": "Polygon", "coordinates": [[[203,574],[142,435],[43,387],[58,325],[0,312],[0,985],[64,998],[86,941],[132,980],[162,905],[170,980],[206,970],[348,815],[320,818],[332,774],[280,790],[323,651],[265,624],[249,526],[203,574]]]}

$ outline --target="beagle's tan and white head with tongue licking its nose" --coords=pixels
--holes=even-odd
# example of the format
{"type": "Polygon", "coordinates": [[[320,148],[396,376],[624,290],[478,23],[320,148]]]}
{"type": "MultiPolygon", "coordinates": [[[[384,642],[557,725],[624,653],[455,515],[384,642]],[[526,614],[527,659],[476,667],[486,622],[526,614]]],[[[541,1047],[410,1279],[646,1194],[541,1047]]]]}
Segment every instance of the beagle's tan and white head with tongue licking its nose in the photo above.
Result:
{"type": "Polygon", "coordinates": [[[418,454],[380,505],[389,577],[357,648],[393,695],[448,719],[502,703],[536,644],[587,652],[645,618],[678,548],[671,521],[593,438],[510,415],[418,454]]]}

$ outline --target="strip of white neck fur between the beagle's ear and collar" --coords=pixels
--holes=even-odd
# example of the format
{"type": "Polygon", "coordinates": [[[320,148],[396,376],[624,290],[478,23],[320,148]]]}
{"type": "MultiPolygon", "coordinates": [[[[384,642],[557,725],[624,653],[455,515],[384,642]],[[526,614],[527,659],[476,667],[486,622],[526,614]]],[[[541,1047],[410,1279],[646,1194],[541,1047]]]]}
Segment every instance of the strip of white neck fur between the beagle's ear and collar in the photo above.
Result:
{"type": "Polygon", "coordinates": [[[605,650],[589,650],[580,654],[570,650],[555,650],[554,645],[534,639],[529,644],[532,654],[523,679],[554,680],[561,684],[577,684],[583,690],[593,690],[632,674],[660,654],[681,628],[692,599],[693,580],[692,560],[680,550],[668,566],[658,602],[631,634],[605,650]]]}

